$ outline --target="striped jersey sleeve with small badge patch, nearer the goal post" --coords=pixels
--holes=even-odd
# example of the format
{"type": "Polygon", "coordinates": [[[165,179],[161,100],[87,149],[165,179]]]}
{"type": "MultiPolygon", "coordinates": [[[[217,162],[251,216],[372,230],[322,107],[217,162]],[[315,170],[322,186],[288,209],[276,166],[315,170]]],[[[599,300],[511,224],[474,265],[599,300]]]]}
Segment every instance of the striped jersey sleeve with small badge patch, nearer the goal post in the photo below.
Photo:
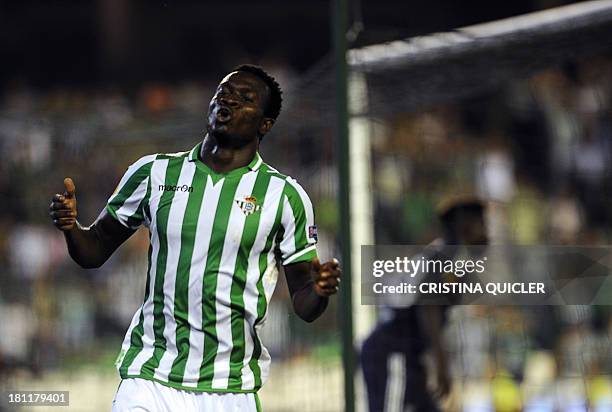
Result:
{"type": "Polygon", "coordinates": [[[292,178],[287,178],[281,216],[280,251],[283,265],[311,261],[317,256],[317,227],[310,198],[292,178]]]}

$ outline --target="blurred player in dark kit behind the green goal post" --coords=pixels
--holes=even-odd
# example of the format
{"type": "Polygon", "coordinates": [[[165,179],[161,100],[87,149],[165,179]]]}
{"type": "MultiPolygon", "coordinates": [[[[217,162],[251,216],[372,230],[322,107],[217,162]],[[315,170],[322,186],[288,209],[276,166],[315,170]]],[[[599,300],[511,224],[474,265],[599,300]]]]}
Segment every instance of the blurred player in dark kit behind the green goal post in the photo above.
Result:
{"type": "MultiPolygon", "coordinates": [[[[444,233],[442,239],[432,245],[487,244],[484,206],[477,198],[453,198],[439,207],[438,215],[444,233]]],[[[435,398],[446,397],[451,389],[442,333],[449,306],[412,304],[381,309],[388,311],[388,316],[367,337],[361,350],[369,411],[384,412],[389,408],[388,361],[392,354],[404,358],[402,410],[438,411],[435,398]],[[423,363],[423,355],[427,352],[435,362],[436,388],[433,393],[427,387],[427,370],[423,363]]]]}

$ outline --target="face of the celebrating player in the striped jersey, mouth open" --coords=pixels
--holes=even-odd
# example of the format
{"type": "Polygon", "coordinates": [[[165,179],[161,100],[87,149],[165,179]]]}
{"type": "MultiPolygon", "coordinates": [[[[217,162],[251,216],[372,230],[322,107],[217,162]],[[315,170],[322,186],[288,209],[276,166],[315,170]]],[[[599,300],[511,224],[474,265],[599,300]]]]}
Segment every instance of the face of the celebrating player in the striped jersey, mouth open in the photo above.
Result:
{"type": "Polygon", "coordinates": [[[268,86],[251,73],[228,74],[210,101],[208,132],[229,144],[248,143],[265,134],[264,109],[269,94],[268,86]]]}

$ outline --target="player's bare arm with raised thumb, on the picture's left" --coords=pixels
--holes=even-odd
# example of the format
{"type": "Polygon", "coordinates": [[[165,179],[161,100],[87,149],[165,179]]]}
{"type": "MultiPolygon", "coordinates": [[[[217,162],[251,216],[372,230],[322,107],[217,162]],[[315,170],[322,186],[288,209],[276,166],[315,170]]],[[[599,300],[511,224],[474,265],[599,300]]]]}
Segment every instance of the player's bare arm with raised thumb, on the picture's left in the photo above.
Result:
{"type": "Polygon", "coordinates": [[[72,179],[64,179],[66,191],[56,193],[49,205],[49,216],[55,227],[64,232],[68,253],[81,267],[98,268],[125,242],[134,230],[112,217],[106,209],[89,227],[77,221],[76,188],[72,179]]]}

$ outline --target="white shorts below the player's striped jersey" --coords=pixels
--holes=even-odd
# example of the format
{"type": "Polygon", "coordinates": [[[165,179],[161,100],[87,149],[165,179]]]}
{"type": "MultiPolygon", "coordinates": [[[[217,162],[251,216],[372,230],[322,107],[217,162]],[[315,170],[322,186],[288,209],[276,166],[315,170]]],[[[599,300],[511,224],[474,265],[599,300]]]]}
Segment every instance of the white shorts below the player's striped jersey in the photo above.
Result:
{"type": "Polygon", "coordinates": [[[255,393],[175,389],[147,379],[123,379],[112,412],[261,412],[255,393]]]}

